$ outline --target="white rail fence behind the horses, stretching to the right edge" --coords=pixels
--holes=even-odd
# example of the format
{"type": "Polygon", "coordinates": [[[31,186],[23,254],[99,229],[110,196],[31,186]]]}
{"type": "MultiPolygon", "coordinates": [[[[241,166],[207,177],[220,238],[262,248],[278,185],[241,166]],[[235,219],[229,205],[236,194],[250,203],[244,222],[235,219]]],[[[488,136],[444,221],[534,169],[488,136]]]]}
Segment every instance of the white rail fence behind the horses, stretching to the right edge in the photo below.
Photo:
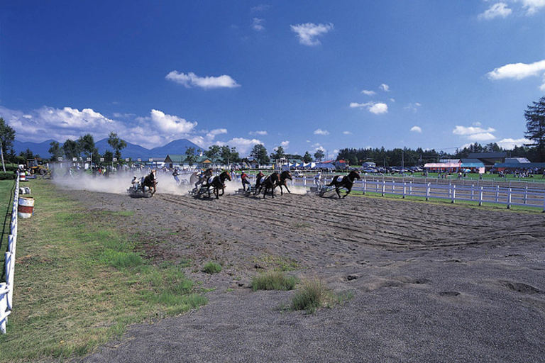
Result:
{"type": "MultiPolygon", "coordinates": [[[[327,184],[331,178],[323,178],[322,183],[327,184]]],[[[294,186],[314,186],[314,179],[307,177],[293,178],[291,183],[294,186]]],[[[532,186],[524,187],[502,187],[502,186],[480,186],[478,184],[431,184],[414,181],[380,181],[380,180],[356,180],[353,191],[378,193],[382,196],[387,194],[405,196],[421,196],[429,199],[448,199],[452,203],[456,201],[475,201],[479,206],[483,203],[505,204],[511,206],[530,206],[543,208],[545,211],[545,189],[532,186]]]]}

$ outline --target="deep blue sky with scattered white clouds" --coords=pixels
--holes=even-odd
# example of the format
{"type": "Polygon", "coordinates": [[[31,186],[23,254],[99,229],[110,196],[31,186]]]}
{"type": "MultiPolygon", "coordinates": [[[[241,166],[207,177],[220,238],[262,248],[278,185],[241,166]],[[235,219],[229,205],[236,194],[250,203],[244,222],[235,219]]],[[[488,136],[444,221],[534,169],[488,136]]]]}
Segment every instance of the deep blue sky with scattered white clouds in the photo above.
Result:
{"type": "Polygon", "coordinates": [[[512,147],[544,95],[545,0],[0,4],[21,141],[512,147]]]}

